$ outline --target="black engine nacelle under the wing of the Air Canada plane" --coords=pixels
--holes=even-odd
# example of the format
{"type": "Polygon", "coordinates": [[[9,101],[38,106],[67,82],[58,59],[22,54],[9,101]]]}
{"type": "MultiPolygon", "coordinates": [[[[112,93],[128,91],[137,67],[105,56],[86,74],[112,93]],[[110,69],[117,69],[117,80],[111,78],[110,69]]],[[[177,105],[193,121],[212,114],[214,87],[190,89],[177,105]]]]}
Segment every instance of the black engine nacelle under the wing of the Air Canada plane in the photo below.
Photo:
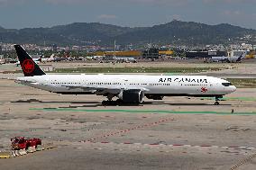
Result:
{"type": "Polygon", "coordinates": [[[123,90],[118,98],[122,99],[123,103],[143,103],[144,93],[142,90],[123,90]]]}

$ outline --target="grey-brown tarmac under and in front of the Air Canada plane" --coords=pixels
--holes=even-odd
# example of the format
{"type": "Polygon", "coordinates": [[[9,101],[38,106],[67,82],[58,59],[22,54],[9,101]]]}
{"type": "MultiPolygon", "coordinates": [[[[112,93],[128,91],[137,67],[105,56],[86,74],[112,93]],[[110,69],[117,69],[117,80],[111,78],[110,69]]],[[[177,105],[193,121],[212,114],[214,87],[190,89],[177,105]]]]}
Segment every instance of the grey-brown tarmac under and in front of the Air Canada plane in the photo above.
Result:
{"type": "Polygon", "coordinates": [[[256,168],[256,89],[221,105],[166,97],[139,106],[102,106],[104,97],[59,95],[0,79],[0,150],[16,136],[58,148],[0,159],[0,169],[256,168]],[[233,113],[232,113],[233,110],[233,113]]]}

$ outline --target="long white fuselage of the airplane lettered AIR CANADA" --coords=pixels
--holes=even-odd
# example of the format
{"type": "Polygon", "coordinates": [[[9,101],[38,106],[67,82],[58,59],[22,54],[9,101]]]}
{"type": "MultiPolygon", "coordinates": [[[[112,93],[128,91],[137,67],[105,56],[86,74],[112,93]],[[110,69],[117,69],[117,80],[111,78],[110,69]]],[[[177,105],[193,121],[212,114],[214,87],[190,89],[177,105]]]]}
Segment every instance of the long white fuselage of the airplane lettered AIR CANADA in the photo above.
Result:
{"type": "Polygon", "coordinates": [[[226,80],[211,76],[45,75],[20,77],[18,80],[23,85],[58,94],[117,96],[122,90],[141,89],[144,94],[162,96],[222,96],[236,90],[226,80]]]}

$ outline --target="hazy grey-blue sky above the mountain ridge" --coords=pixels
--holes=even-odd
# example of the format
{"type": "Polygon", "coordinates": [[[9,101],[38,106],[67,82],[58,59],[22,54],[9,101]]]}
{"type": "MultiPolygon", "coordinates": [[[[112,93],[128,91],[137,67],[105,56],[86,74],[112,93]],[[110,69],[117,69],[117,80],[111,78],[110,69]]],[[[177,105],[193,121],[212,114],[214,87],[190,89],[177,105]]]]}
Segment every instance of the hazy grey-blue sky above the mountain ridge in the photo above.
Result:
{"type": "Polygon", "coordinates": [[[0,0],[0,26],[5,28],[72,22],[135,27],[173,19],[256,29],[256,0],[0,0]]]}

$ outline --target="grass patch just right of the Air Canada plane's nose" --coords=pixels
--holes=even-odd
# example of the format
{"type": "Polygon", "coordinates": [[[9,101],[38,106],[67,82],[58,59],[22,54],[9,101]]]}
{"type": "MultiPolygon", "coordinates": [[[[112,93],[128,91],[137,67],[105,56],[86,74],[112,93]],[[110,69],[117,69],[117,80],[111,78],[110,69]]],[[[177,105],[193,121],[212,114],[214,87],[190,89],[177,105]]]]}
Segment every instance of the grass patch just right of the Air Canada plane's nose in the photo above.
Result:
{"type": "Polygon", "coordinates": [[[238,88],[256,88],[256,78],[227,78],[226,80],[238,88]]]}

